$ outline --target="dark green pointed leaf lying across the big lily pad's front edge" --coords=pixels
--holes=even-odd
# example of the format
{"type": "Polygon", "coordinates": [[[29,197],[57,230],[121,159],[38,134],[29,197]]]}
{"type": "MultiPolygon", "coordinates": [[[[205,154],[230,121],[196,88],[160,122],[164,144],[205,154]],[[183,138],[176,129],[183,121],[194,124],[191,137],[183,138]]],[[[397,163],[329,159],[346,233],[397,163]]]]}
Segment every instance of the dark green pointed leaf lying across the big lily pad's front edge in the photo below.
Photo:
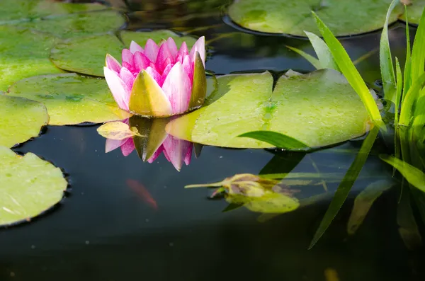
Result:
{"type": "Polygon", "coordinates": [[[310,147],[307,144],[300,142],[293,137],[289,137],[285,134],[271,131],[253,131],[240,134],[238,137],[250,137],[251,139],[258,139],[261,142],[267,142],[268,144],[274,145],[280,149],[290,150],[307,150],[310,147]]]}

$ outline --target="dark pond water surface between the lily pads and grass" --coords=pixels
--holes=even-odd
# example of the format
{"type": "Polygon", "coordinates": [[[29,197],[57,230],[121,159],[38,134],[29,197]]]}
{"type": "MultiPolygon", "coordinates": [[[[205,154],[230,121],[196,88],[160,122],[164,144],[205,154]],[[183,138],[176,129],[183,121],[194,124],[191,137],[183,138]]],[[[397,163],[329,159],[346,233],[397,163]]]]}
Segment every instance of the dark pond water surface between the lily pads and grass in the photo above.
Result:
{"type": "MultiPolygon", "coordinates": [[[[312,53],[307,40],[242,33],[224,23],[222,5],[226,2],[133,3],[131,8],[137,12],[130,14],[128,28],[187,32],[205,27],[193,34],[212,40],[206,68],[217,74],[314,70],[305,59],[285,48],[291,45],[312,53]]],[[[397,24],[390,31],[393,53],[402,61],[403,28],[397,24]]],[[[379,37],[377,32],[342,42],[356,59],[376,50],[379,37]]],[[[378,53],[363,60],[358,68],[372,85],[380,77],[378,53]]],[[[378,198],[355,235],[346,232],[353,198],[359,190],[373,177],[391,176],[391,169],[376,156],[378,151],[385,151],[382,142],[375,145],[361,173],[363,179],[356,182],[331,227],[307,251],[329,200],[258,222],[259,214],[244,208],[223,213],[227,202],[208,199],[212,190],[183,188],[236,173],[259,173],[273,157],[280,165],[268,167],[276,173],[284,172],[297,156],[203,147],[200,157],[178,172],[163,155],[147,164],[135,152],[128,157],[119,149],[105,154],[105,139],[98,135],[97,127],[48,127],[41,137],[14,149],[31,151],[62,167],[70,186],[67,197],[52,212],[33,223],[0,231],[1,281],[425,278],[423,251],[408,251],[398,234],[398,188],[378,198]],[[146,200],[142,188],[131,188],[128,180],[141,183],[156,203],[146,200]]],[[[357,140],[314,152],[304,156],[293,171],[315,172],[314,163],[322,173],[344,173],[360,145],[361,140],[357,140]]],[[[329,192],[337,184],[330,183],[329,192]]],[[[300,197],[324,193],[321,185],[300,189],[300,197]]]]}

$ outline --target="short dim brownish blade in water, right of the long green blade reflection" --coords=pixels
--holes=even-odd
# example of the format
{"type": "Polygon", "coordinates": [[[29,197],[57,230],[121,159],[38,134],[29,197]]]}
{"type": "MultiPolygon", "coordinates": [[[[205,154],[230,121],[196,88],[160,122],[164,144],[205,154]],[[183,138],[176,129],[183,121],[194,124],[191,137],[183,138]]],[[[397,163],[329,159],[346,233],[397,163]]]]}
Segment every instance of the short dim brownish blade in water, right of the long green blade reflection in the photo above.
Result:
{"type": "Polygon", "coordinates": [[[363,220],[368,214],[373,202],[382,195],[385,190],[388,190],[394,185],[392,180],[378,180],[370,183],[364,190],[361,191],[354,200],[353,210],[351,211],[350,219],[348,219],[347,232],[354,234],[358,227],[361,226],[363,220]]]}

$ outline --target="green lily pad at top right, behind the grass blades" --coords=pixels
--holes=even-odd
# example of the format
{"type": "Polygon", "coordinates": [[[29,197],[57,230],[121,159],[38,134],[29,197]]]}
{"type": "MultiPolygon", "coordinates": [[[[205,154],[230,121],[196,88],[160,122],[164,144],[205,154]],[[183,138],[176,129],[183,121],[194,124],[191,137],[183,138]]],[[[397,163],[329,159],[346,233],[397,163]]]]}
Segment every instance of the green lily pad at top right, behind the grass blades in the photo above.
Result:
{"type": "MultiPolygon", "coordinates": [[[[336,36],[379,30],[392,0],[244,0],[229,6],[229,16],[244,28],[264,33],[285,33],[305,37],[304,31],[319,34],[311,11],[327,24],[336,36]]],[[[397,21],[402,5],[392,13],[397,21]]]]}

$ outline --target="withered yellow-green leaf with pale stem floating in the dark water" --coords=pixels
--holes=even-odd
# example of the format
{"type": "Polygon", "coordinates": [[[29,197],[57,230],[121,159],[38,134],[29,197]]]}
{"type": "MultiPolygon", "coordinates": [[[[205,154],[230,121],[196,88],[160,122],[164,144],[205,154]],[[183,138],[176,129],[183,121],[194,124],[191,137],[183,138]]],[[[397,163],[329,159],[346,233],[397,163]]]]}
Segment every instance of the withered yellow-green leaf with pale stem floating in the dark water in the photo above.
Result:
{"type": "Polygon", "coordinates": [[[225,200],[230,204],[225,211],[243,205],[252,212],[284,213],[293,211],[300,205],[300,202],[293,197],[294,190],[290,190],[280,180],[261,178],[249,173],[225,178],[219,183],[186,186],[186,188],[197,187],[221,187],[213,196],[225,193],[225,200]]]}

